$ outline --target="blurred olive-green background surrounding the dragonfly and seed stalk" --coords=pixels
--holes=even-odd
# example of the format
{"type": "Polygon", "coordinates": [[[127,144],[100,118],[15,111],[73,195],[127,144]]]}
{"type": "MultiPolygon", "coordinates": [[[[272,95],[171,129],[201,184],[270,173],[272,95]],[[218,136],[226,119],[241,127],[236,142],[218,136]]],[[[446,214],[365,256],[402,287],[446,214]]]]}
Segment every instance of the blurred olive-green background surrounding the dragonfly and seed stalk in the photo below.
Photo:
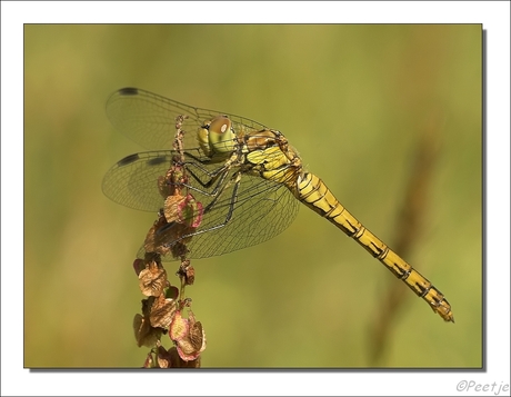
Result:
{"type": "Polygon", "coordinates": [[[143,151],[104,113],[108,96],[132,86],[281,130],[391,247],[421,136],[440,137],[405,259],[445,294],[454,325],[303,207],[265,244],[193,261],[203,367],[481,367],[481,34],[475,24],[26,26],[24,366],[140,367],[148,353],[132,331],[143,296],[131,264],[154,214],[101,191],[117,160],[143,151]],[[374,324],[397,288],[404,301],[375,360],[374,324]]]}

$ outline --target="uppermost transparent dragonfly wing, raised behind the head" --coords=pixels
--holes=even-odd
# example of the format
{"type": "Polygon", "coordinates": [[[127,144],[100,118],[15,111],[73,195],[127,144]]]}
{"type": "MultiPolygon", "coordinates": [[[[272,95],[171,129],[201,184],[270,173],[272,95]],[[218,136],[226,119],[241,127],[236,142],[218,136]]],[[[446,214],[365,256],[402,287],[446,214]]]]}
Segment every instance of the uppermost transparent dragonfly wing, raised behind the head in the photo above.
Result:
{"type": "Polygon", "coordinates": [[[151,150],[172,148],[178,116],[188,117],[182,125],[186,148],[197,147],[199,127],[219,115],[231,119],[236,132],[265,129],[244,117],[194,108],[138,88],[122,88],[112,93],[107,101],[107,115],[120,132],[151,150]]]}

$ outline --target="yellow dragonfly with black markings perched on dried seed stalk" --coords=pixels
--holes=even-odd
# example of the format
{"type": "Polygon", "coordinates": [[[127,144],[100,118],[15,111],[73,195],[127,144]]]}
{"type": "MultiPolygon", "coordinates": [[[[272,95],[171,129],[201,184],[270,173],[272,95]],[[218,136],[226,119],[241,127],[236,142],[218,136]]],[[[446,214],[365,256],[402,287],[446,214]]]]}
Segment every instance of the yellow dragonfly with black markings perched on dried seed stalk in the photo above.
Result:
{"type": "MultiPolygon", "coordinates": [[[[445,321],[454,322],[443,294],[351,215],[321,178],[305,171],[280,131],[138,88],[112,93],[107,116],[149,151],[118,161],[103,178],[103,192],[144,211],[161,211],[164,195],[159,180],[176,161],[171,148],[181,120],[180,166],[189,175],[183,187],[201,206],[200,224],[187,234],[168,232],[176,222],[162,226],[167,247],[186,240],[189,258],[206,258],[254,246],[289,227],[302,204],[354,239],[445,321]]],[[[168,254],[162,259],[177,258],[168,254]]]]}

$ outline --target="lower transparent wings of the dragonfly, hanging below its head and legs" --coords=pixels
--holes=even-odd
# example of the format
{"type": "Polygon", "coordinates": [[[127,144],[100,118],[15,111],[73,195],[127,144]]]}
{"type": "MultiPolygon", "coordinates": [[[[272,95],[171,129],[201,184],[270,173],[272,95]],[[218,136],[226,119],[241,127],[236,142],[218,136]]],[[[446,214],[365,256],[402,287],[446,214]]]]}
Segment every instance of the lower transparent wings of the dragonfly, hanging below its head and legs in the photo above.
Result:
{"type": "MultiPolygon", "coordinates": [[[[173,155],[168,150],[126,157],[107,172],[104,193],[123,206],[157,212],[163,207],[158,178],[166,175],[173,155]]],[[[206,188],[203,185],[220,166],[200,163],[196,167],[196,158],[189,152],[184,155],[187,168],[193,172],[188,192],[206,210],[194,236],[187,244],[189,258],[217,256],[258,245],[277,236],[294,220],[300,201],[282,183],[247,173],[242,173],[236,183],[233,180],[239,169],[233,168],[216,198],[213,187],[206,188]]],[[[166,242],[170,246],[176,241],[166,242]]],[[[163,260],[173,258],[169,255],[163,260]]]]}

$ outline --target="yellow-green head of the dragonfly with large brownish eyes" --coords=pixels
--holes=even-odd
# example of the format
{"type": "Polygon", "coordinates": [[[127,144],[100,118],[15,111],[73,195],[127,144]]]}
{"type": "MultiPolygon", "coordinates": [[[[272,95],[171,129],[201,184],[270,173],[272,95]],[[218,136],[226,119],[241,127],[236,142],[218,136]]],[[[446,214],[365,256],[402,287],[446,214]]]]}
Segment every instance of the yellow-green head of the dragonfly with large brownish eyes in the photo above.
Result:
{"type": "Polygon", "coordinates": [[[234,150],[236,135],[231,120],[227,116],[218,116],[204,122],[197,138],[202,151],[209,158],[224,158],[234,150]]]}

